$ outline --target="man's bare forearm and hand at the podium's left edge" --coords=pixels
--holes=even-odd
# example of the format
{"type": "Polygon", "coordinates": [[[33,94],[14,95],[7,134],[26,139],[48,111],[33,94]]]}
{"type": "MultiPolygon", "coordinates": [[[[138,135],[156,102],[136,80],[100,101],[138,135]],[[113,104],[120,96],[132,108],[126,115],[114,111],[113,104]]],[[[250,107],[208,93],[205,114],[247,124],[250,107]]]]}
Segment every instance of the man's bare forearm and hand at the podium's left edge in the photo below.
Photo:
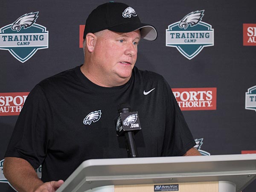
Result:
{"type": "Polygon", "coordinates": [[[63,180],[43,183],[30,163],[17,157],[4,159],[3,174],[19,192],[55,192],[64,183],[63,180]]]}

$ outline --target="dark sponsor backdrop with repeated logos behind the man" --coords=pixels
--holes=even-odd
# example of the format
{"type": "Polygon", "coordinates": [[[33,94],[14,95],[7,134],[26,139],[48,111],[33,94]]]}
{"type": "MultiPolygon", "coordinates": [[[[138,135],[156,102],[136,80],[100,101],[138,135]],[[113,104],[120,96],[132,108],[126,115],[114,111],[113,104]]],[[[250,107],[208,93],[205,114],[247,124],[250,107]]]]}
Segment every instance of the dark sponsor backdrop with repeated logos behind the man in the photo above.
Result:
{"type": "MultiPolygon", "coordinates": [[[[140,42],[136,65],[169,82],[198,150],[204,155],[256,153],[256,1],[120,1],[157,28],[157,40],[140,42]]],[[[83,63],[85,20],[106,2],[1,0],[1,168],[29,91],[42,79],[83,63]]],[[[256,182],[244,192],[255,188],[256,182]]],[[[14,191],[3,169],[0,189],[14,191]]]]}

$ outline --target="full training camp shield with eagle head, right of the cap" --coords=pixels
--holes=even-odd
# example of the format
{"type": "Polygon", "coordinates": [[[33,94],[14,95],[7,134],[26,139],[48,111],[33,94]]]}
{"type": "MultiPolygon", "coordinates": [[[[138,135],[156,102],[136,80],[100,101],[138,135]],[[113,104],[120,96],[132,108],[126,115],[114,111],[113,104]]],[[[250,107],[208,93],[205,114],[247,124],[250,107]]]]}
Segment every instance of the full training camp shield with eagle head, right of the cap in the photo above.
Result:
{"type": "Polygon", "coordinates": [[[214,45],[214,29],[202,22],[204,10],[191,12],[182,20],[172,23],[166,29],[166,46],[176,47],[186,58],[191,60],[204,47],[214,45]]]}

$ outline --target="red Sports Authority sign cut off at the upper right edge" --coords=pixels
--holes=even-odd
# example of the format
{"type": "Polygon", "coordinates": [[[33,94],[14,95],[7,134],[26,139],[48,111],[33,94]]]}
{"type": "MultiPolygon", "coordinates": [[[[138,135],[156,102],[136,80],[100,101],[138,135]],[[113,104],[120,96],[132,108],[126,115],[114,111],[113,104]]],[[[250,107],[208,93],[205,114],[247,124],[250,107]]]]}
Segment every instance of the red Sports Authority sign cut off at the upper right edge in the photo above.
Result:
{"type": "Polygon", "coordinates": [[[256,24],[243,24],[243,45],[256,46],[256,24]]]}

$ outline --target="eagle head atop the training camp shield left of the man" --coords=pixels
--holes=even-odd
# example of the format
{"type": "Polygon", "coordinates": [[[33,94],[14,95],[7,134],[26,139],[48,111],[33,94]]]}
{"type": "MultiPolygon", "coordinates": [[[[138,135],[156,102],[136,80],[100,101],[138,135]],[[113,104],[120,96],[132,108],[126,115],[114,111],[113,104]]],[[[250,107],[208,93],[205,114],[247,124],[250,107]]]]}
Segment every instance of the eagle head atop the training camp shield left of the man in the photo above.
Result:
{"type": "Polygon", "coordinates": [[[22,15],[12,24],[12,30],[19,32],[22,27],[24,29],[31,27],[38,18],[37,15],[38,12],[31,12],[22,15]]]}

